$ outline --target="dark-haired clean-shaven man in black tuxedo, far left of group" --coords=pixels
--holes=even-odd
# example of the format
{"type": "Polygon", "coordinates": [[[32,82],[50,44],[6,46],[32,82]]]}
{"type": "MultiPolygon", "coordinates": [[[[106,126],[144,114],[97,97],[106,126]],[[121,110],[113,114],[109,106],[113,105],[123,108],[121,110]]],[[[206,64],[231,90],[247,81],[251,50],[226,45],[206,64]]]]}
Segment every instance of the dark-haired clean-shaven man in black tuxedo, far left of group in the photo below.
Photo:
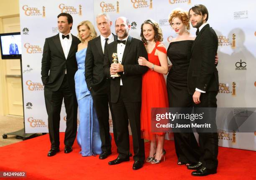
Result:
{"type": "Polygon", "coordinates": [[[70,33],[72,24],[73,19],[70,14],[59,14],[59,34],[46,38],[44,43],[41,78],[44,84],[44,98],[51,141],[51,150],[48,152],[48,156],[53,156],[59,152],[59,123],[63,98],[67,113],[64,153],[72,151],[72,145],[77,134],[77,98],[74,74],[77,71],[75,53],[80,41],[70,33]]]}

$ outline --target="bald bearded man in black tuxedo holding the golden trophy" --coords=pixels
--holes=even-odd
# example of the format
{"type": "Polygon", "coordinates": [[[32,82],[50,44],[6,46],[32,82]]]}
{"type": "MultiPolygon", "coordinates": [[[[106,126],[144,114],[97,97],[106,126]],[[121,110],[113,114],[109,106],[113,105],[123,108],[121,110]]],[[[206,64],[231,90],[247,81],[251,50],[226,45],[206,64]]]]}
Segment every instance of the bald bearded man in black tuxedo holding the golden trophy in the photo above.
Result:
{"type": "Polygon", "coordinates": [[[138,58],[148,54],[141,40],[128,35],[131,25],[127,18],[120,17],[115,21],[115,32],[118,40],[106,46],[104,57],[104,72],[108,78],[118,73],[120,77],[110,81],[110,94],[117,132],[116,145],[118,158],[110,161],[116,165],[129,161],[129,131],[130,122],[133,135],[133,170],[143,166],[145,160],[144,141],[141,139],[141,83],[142,74],[148,68],[138,65],[138,58]],[[113,53],[117,53],[118,63],[113,63],[113,53]],[[129,121],[128,121],[129,119],[129,121]]]}

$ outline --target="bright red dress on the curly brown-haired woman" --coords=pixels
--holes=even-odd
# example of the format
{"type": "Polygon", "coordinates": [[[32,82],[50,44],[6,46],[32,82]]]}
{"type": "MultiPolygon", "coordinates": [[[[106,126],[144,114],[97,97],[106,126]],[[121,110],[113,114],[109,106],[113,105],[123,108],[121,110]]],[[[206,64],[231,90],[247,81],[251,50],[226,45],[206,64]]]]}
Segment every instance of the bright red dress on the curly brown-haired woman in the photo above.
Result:
{"type": "MultiPolygon", "coordinates": [[[[148,61],[154,65],[161,66],[156,49],[167,53],[165,47],[157,47],[161,42],[156,42],[156,46],[151,53],[148,53],[148,61]]],[[[151,132],[151,107],[169,107],[166,82],[164,75],[148,68],[142,76],[141,94],[141,135],[142,138],[152,140],[153,135],[164,135],[164,133],[151,132]]]]}

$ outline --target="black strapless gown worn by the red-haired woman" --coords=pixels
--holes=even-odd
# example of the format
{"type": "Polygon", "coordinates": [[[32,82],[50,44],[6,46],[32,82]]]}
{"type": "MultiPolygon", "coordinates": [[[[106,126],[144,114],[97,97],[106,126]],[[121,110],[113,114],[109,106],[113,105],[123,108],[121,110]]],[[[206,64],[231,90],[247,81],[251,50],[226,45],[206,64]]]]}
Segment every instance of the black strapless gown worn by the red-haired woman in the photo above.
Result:
{"type": "MultiPolygon", "coordinates": [[[[193,99],[187,89],[187,71],[193,40],[171,42],[167,55],[172,68],[166,79],[169,107],[192,107],[193,99]]],[[[174,133],[178,161],[195,164],[200,158],[194,133],[174,133]]]]}

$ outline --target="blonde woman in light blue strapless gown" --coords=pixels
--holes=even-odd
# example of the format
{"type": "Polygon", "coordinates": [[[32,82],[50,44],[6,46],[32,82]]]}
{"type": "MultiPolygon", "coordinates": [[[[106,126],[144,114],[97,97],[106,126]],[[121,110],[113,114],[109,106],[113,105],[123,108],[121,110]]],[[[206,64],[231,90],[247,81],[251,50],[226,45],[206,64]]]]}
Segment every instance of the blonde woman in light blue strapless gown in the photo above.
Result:
{"type": "Polygon", "coordinates": [[[99,122],[93,108],[92,96],[85,82],[84,60],[88,41],[95,38],[97,32],[88,20],[79,23],[77,31],[78,38],[81,40],[76,53],[78,70],[74,76],[80,121],[77,143],[81,147],[80,154],[82,156],[91,156],[101,153],[101,140],[99,122]]]}

